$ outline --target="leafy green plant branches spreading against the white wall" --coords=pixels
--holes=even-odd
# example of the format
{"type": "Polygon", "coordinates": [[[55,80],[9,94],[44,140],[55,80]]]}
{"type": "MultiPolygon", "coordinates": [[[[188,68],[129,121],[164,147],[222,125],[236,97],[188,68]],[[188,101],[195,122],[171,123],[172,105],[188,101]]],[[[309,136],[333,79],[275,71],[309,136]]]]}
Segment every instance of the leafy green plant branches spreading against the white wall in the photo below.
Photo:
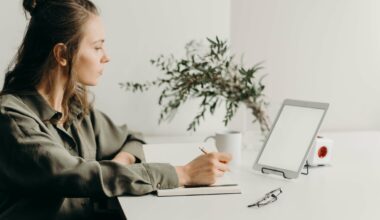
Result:
{"type": "Polygon", "coordinates": [[[255,121],[265,134],[269,130],[264,96],[263,77],[257,79],[261,63],[244,68],[230,55],[226,41],[207,38],[208,47],[201,42],[186,44],[186,57],[176,59],[173,55],[160,55],[151,63],[164,75],[146,83],[125,82],[120,86],[132,92],[143,92],[151,87],[162,88],[158,104],[162,106],[159,123],[174,117],[178,108],[190,98],[201,99],[200,111],[193,118],[188,130],[196,130],[206,112],[214,114],[221,103],[225,104],[225,125],[236,113],[240,103],[251,110],[255,121]]]}

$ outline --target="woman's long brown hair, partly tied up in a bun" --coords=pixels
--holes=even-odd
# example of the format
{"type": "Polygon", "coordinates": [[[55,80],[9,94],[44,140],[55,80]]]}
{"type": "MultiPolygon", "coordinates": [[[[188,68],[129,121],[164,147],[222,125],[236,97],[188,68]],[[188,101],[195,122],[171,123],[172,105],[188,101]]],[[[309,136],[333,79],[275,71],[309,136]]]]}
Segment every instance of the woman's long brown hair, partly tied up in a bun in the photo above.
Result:
{"type": "Polygon", "coordinates": [[[88,113],[87,90],[76,80],[73,62],[83,37],[83,27],[91,14],[98,15],[90,0],[23,0],[25,13],[30,21],[18,52],[8,67],[1,94],[17,94],[34,90],[47,80],[48,90],[54,88],[51,71],[58,65],[53,48],[58,43],[66,46],[68,82],[63,97],[64,121],[67,121],[69,105],[79,102],[88,113]]]}

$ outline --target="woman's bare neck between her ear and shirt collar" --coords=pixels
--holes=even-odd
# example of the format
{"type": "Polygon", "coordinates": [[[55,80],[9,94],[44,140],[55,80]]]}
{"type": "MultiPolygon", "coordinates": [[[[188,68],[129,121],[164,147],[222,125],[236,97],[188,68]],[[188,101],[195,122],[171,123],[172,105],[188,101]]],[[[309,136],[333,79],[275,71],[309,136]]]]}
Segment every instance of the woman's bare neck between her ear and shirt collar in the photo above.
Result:
{"type": "Polygon", "coordinates": [[[57,77],[55,77],[52,82],[44,80],[36,89],[54,110],[62,112],[62,101],[67,80],[62,77],[63,74],[54,73],[53,75],[57,77]]]}

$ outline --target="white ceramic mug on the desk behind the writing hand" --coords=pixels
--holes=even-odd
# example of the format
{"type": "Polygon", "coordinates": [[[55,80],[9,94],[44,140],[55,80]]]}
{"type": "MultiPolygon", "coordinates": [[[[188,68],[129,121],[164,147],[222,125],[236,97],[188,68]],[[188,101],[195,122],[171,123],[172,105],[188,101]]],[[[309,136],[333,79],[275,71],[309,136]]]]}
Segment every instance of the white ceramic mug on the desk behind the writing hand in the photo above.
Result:
{"type": "Polygon", "coordinates": [[[241,163],[241,146],[242,134],[238,131],[218,132],[214,136],[205,139],[214,139],[216,148],[219,152],[229,153],[232,156],[231,166],[237,166],[241,163]]]}

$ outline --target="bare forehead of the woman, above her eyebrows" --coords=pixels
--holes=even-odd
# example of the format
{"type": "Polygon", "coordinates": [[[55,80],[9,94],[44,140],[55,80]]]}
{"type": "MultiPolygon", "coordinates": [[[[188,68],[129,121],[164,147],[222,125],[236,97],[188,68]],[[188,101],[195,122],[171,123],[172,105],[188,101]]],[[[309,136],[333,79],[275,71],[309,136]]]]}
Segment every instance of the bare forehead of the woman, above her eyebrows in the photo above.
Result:
{"type": "Polygon", "coordinates": [[[93,43],[95,41],[104,40],[105,31],[104,25],[100,16],[90,15],[88,21],[83,27],[83,41],[93,43]]]}

